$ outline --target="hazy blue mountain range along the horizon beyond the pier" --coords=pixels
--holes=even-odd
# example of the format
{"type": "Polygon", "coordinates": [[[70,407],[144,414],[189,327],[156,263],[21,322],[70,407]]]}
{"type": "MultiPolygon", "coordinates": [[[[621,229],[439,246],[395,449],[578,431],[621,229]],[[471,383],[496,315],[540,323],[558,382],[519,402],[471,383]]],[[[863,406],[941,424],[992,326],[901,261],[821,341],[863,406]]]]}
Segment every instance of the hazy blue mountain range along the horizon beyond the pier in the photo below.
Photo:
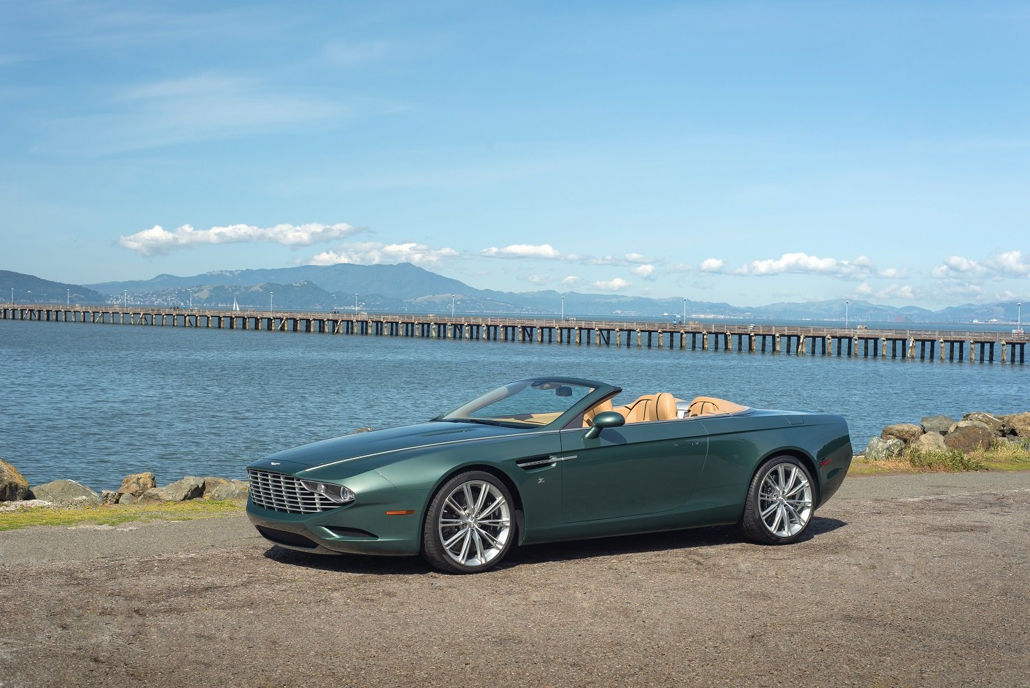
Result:
{"type": "MultiPolygon", "coordinates": [[[[3,289],[13,289],[15,302],[115,303],[158,306],[390,312],[524,313],[586,317],[675,317],[775,320],[844,320],[854,322],[1009,322],[1016,302],[965,304],[936,311],[916,306],[885,306],[844,299],[765,306],[733,306],[681,298],[650,299],[579,291],[496,291],[477,289],[410,263],[397,265],[299,266],[268,270],[232,270],[201,275],[158,275],[147,280],[77,285],[32,275],[0,271],[3,289]],[[64,294],[62,294],[64,291],[64,294]]],[[[6,301],[7,299],[3,299],[6,301]]]]}

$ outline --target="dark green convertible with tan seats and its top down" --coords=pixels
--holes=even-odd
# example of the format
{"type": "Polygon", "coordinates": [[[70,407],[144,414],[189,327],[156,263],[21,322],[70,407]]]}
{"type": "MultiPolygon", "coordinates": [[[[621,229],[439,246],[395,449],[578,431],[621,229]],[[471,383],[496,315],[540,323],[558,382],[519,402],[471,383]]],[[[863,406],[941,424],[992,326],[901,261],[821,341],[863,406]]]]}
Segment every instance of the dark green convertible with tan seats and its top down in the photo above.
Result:
{"type": "Polygon", "coordinates": [[[516,544],[740,523],[799,539],[851,465],[837,415],[512,382],[416,425],[324,440],[247,468],[247,514],[281,547],[421,554],[477,573],[516,544]]]}

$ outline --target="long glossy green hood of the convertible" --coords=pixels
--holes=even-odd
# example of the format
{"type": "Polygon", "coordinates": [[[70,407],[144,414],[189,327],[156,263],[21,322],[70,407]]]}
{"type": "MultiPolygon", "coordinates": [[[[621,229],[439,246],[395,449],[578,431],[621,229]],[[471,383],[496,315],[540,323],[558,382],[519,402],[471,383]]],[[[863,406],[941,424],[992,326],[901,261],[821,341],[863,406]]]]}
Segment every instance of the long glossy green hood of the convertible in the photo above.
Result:
{"type": "MultiPolygon", "coordinates": [[[[389,429],[358,433],[322,440],[277,452],[250,465],[250,468],[288,471],[317,468],[328,463],[360,460],[360,470],[371,470],[389,462],[392,452],[433,447],[453,442],[522,435],[526,428],[501,427],[467,422],[427,422],[389,429]],[[281,468],[280,468],[281,467],[281,468]]],[[[358,467],[353,467],[358,468],[358,467]]],[[[348,471],[347,473],[352,473],[348,471]]]]}

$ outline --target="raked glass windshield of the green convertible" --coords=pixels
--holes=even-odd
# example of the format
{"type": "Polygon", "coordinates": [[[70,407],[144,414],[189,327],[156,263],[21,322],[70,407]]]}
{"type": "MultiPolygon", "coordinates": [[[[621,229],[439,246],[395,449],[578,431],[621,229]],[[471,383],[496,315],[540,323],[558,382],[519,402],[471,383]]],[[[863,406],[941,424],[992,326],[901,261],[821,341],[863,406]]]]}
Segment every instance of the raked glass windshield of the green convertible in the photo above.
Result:
{"type": "Polygon", "coordinates": [[[488,391],[438,420],[539,427],[554,422],[594,387],[562,380],[522,380],[488,391]]]}

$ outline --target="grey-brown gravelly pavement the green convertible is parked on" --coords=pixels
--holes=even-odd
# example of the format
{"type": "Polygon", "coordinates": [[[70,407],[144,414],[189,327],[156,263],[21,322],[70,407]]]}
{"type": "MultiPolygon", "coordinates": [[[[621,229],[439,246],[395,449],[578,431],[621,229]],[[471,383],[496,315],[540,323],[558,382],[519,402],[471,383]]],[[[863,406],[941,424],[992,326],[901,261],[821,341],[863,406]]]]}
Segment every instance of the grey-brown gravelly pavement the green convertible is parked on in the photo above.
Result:
{"type": "Polygon", "coordinates": [[[789,547],[706,528],[464,577],[238,516],[0,532],[0,685],[1030,686],[1028,528],[1030,473],[988,473],[849,479],[789,547]]]}

